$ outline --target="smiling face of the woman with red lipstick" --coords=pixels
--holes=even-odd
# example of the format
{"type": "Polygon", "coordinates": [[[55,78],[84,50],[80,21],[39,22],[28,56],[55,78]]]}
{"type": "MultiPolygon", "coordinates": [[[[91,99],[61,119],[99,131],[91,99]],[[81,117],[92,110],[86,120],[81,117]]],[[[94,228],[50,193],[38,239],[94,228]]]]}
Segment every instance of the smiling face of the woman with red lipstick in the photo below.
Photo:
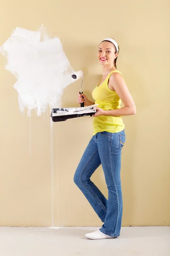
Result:
{"type": "Polygon", "coordinates": [[[104,41],[99,44],[98,59],[102,65],[113,64],[114,59],[117,57],[117,53],[114,45],[111,42],[104,41]]]}

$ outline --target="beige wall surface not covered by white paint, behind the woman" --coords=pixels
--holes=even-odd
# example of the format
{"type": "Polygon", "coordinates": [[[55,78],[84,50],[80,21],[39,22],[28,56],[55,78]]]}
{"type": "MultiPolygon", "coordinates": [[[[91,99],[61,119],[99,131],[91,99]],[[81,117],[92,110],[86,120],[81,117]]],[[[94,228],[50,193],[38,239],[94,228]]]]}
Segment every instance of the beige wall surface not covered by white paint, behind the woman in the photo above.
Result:
{"type": "MultiPolygon", "coordinates": [[[[91,98],[102,69],[100,40],[113,37],[117,61],[136,102],[136,116],[123,117],[127,140],[122,152],[122,225],[170,225],[170,133],[168,0],[0,0],[0,45],[16,26],[37,30],[43,23],[60,36],[75,70],[85,70],[91,98]]],[[[14,76],[0,55],[0,225],[51,226],[50,116],[20,113],[14,76]]],[[[64,91],[62,106],[78,106],[80,81],[64,91]]],[[[73,182],[92,136],[92,117],[54,123],[54,226],[102,223],[73,182]],[[67,158],[65,157],[67,155],[67,158]]],[[[107,196],[102,168],[92,177],[107,196]]]]}

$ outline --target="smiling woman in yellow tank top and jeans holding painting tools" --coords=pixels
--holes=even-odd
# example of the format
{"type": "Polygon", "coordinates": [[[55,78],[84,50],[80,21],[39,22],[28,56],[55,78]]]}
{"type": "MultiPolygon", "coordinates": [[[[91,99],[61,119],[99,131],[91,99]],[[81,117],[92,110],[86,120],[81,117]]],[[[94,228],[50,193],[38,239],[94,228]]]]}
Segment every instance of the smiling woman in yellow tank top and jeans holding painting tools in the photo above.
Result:
{"type": "MultiPolygon", "coordinates": [[[[103,76],[92,93],[99,108],[93,115],[93,137],[74,175],[74,182],[104,223],[98,231],[86,234],[88,239],[120,236],[123,209],[120,169],[125,144],[125,125],[121,116],[136,114],[136,107],[122,74],[116,69],[118,54],[118,44],[112,38],[105,38],[99,44],[98,59],[103,76]],[[125,105],[122,108],[121,102],[125,105]],[[108,200],[90,180],[100,164],[105,174],[108,200]]],[[[94,104],[85,94],[79,95],[77,101],[84,102],[86,106],[94,104]]]]}

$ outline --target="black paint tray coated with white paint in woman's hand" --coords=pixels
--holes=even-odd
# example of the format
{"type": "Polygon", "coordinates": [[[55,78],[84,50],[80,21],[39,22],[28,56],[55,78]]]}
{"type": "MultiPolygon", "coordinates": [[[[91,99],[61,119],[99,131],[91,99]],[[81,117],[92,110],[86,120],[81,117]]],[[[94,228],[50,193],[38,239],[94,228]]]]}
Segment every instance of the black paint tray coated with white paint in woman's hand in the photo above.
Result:
{"type": "Polygon", "coordinates": [[[62,122],[71,118],[92,116],[96,113],[95,106],[97,105],[91,105],[85,108],[52,108],[51,118],[53,122],[62,122]]]}

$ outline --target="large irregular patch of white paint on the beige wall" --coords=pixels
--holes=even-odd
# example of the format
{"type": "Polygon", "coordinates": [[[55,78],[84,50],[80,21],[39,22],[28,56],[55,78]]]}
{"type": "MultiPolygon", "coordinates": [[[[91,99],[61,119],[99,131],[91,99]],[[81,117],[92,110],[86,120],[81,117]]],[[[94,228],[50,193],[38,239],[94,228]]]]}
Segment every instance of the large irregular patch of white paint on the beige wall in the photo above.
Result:
{"type": "Polygon", "coordinates": [[[17,27],[0,47],[7,57],[6,70],[17,79],[14,88],[18,92],[20,110],[35,109],[38,116],[51,108],[59,108],[62,91],[77,79],[59,38],[49,38],[41,31],[17,27]]]}

